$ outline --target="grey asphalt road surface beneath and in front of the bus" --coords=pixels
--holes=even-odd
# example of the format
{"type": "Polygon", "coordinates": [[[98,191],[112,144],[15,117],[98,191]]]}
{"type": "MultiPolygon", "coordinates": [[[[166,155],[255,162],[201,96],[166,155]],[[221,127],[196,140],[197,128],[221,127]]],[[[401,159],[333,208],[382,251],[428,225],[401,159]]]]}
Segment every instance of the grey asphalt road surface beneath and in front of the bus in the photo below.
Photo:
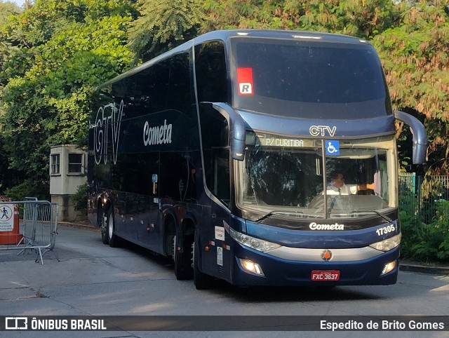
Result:
{"type": "MultiPolygon", "coordinates": [[[[0,316],[449,316],[449,276],[400,271],[398,283],[389,286],[321,290],[217,283],[213,290],[197,291],[192,280],[175,279],[170,260],[147,250],[109,248],[94,229],[60,227],[58,233],[60,262],[51,252],[41,265],[34,253],[0,251],[0,316]]],[[[448,327],[424,333],[289,332],[279,325],[279,331],[264,332],[263,324],[241,332],[27,331],[0,337],[449,337],[448,327]]]]}

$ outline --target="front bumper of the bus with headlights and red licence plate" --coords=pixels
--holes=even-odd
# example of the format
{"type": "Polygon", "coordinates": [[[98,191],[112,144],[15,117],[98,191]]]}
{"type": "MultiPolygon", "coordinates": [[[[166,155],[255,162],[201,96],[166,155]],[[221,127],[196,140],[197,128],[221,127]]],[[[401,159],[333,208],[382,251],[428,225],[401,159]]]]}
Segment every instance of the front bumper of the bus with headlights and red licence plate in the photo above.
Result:
{"type": "Polygon", "coordinates": [[[387,252],[292,248],[270,254],[237,244],[233,250],[234,285],[390,285],[398,275],[399,246],[387,252]]]}

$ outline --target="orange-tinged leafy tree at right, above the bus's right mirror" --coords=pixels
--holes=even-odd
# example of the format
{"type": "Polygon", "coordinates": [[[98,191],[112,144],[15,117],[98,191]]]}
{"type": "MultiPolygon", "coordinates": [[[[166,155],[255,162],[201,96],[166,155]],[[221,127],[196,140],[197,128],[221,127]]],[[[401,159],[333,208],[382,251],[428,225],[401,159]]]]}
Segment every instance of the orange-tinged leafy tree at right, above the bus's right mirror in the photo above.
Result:
{"type": "Polygon", "coordinates": [[[424,122],[431,172],[441,175],[449,174],[448,13],[447,1],[420,1],[373,40],[395,107],[424,122]]]}

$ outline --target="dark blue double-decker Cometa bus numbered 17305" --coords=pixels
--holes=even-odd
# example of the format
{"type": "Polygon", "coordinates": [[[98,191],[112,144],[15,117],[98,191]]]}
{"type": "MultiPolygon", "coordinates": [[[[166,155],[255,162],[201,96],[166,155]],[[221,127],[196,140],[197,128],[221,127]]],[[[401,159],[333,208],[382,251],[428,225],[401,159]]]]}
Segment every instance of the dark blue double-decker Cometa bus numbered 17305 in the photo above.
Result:
{"type": "Polygon", "coordinates": [[[413,130],[414,163],[427,134],[392,109],[367,41],[209,32],[103,84],[93,105],[88,216],[103,243],[173,257],[197,289],[396,283],[395,121],[413,130]]]}

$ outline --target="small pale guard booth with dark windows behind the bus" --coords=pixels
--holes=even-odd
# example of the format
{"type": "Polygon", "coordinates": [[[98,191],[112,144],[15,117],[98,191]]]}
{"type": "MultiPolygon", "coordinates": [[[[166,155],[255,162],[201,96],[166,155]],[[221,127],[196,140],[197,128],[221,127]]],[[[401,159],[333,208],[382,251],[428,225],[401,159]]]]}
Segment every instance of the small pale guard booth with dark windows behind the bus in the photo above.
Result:
{"type": "MultiPolygon", "coordinates": [[[[86,151],[74,144],[60,144],[50,151],[51,202],[59,205],[59,222],[74,222],[86,219],[74,210],[72,199],[79,185],[86,182],[86,151]]],[[[86,202],[87,203],[87,202],[86,202]]]]}

